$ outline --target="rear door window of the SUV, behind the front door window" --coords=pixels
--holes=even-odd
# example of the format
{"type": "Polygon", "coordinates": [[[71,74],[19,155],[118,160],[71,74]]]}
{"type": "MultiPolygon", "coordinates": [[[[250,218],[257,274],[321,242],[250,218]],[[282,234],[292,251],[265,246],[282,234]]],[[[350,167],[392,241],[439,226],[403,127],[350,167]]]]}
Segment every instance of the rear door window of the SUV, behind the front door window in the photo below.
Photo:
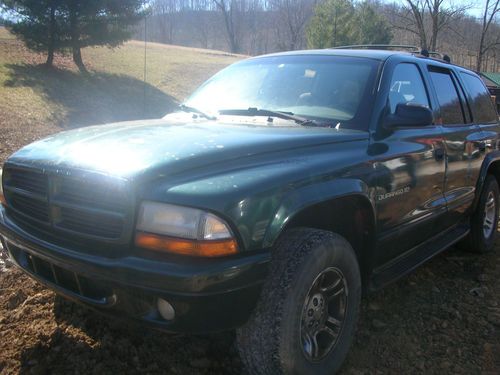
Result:
{"type": "Polygon", "coordinates": [[[462,103],[450,72],[431,71],[430,75],[441,107],[443,124],[464,124],[462,103]]]}

